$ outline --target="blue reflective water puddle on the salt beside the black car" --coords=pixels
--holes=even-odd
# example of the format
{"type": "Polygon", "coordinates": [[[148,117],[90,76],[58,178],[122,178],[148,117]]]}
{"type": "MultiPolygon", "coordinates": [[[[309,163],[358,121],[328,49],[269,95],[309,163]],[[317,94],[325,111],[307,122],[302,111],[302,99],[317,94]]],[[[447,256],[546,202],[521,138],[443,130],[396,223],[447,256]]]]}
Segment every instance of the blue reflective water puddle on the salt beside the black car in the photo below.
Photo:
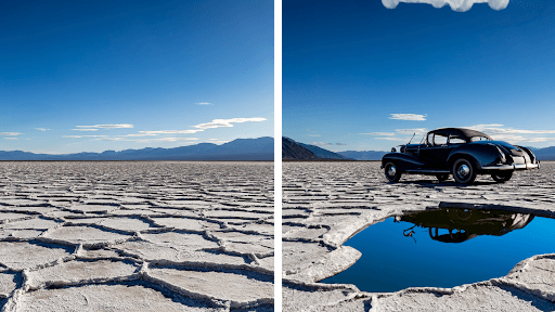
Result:
{"type": "Polygon", "coordinates": [[[344,245],[362,257],[322,283],[354,284],[376,292],[454,287],[504,276],[526,258],[555,252],[555,220],[441,208],[388,218],[344,245]]]}

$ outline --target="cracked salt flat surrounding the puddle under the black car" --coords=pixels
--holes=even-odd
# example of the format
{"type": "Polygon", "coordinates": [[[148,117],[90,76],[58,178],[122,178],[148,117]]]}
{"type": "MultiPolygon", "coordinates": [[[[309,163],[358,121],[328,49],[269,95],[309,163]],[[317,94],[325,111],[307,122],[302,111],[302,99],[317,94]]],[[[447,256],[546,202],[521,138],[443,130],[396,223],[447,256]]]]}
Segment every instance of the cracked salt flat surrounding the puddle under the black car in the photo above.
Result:
{"type": "MultiPolygon", "coordinates": [[[[386,182],[378,161],[283,162],[283,311],[555,311],[555,253],[522,259],[506,276],[454,288],[365,292],[318,283],[361,256],[343,244],[371,224],[426,207],[534,211],[555,217],[555,162],[498,184],[403,176],[386,182]]],[[[518,248],[518,246],[515,246],[518,248]]]]}

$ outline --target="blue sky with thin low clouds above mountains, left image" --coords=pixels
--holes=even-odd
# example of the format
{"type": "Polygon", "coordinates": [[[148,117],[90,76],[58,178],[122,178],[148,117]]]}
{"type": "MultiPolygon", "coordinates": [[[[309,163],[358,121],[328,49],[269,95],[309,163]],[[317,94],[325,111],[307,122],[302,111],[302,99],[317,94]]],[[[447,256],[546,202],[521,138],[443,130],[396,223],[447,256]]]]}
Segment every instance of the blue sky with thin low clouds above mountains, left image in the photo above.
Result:
{"type": "Polygon", "coordinates": [[[0,2],[0,151],[274,136],[275,2],[0,2]]]}

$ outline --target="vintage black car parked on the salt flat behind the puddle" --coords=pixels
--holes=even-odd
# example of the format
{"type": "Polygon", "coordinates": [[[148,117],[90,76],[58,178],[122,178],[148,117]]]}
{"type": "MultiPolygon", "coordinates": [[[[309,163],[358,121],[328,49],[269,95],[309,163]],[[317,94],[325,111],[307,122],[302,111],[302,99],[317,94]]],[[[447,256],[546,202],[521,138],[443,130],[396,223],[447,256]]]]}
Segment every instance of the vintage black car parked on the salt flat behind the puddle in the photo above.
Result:
{"type": "Polygon", "coordinates": [[[515,170],[534,168],[540,168],[540,161],[530,148],[464,128],[430,131],[421,144],[401,145],[399,152],[393,147],[382,158],[390,182],[399,181],[402,173],[436,176],[439,181],[453,174],[463,184],[473,183],[476,174],[490,174],[496,182],[505,182],[515,170]]]}

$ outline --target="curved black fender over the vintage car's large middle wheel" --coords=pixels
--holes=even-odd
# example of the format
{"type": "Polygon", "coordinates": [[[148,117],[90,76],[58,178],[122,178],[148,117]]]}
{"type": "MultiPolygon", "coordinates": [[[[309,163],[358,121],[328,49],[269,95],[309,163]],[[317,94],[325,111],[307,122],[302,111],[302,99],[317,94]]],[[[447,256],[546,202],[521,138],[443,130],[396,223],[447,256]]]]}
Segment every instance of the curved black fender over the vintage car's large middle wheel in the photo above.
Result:
{"type": "Polygon", "coordinates": [[[495,165],[500,159],[500,151],[493,144],[466,144],[460,146],[448,157],[449,168],[453,166],[456,159],[466,158],[474,162],[477,170],[481,170],[481,167],[489,165],[495,165]]]}

